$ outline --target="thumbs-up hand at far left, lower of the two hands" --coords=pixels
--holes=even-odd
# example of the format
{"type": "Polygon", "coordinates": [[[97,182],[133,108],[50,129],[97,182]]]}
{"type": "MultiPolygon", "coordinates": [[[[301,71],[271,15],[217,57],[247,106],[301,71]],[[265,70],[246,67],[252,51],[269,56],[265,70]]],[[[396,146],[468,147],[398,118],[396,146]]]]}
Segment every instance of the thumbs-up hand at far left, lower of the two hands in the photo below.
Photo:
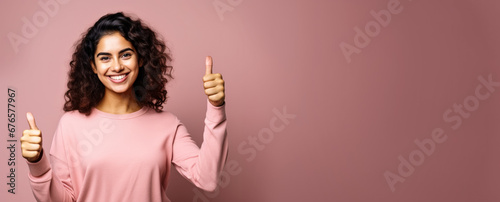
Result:
{"type": "Polygon", "coordinates": [[[33,114],[28,112],[26,118],[28,119],[30,129],[23,131],[23,136],[21,137],[21,151],[26,160],[29,162],[36,162],[41,158],[42,131],[38,130],[33,114]]]}

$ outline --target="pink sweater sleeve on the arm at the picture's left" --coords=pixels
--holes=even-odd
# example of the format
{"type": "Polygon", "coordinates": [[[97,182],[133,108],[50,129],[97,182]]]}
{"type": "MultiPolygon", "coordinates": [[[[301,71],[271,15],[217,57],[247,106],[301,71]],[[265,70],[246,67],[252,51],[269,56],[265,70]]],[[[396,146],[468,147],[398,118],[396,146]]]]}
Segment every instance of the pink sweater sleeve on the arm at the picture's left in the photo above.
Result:
{"type": "Polygon", "coordinates": [[[37,201],[76,201],[65,158],[62,131],[61,120],[52,140],[50,159],[46,151],[43,151],[42,158],[38,162],[27,161],[28,178],[37,201]]]}

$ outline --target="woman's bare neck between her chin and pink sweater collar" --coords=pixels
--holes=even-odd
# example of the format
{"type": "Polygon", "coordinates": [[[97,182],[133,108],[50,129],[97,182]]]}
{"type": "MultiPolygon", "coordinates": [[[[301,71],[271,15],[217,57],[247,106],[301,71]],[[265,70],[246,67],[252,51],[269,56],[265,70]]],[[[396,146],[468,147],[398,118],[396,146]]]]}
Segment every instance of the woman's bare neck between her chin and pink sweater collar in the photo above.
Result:
{"type": "Polygon", "coordinates": [[[141,106],[132,95],[131,90],[125,93],[115,93],[106,89],[104,97],[96,108],[111,114],[129,114],[141,109],[141,106]]]}

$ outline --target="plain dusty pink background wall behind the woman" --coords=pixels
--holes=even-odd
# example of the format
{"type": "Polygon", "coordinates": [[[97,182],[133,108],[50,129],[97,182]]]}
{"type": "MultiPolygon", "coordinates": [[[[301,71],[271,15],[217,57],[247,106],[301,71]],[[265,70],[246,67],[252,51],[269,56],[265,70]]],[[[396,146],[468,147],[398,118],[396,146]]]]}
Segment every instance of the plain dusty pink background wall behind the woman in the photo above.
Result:
{"type": "Polygon", "coordinates": [[[1,201],[34,201],[19,142],[16,194],[7,192],[7,87],[17,90],[17,138],[31,111],[50,148],[72,45],[100,16],[116,11],[134,13],[166,39],[175,80],[165,107],[198,143],[206,55],[226,81],[228,161],[241,171],[203,199],[173,172],[172,201],[500,201],[500,87],[483,88],[490,97],[456,130],[443,119],[475,95],[478,77],[500,81],[500,2],[401,0],[401,12],[379,25],[349,63],[339,44],[355,45],[354,28],[364,30],[375,21],[370,11],[391,1],[2,1],[1,201]],[[38,2],[59,8],[51,16],[38,2]],[[232,10],[221,18],[213,2],[232,10]],[[22,36],[23,18],[33,22],[33,16],[42,16],[40,27],[16,52],[8,33],[22,36]],[[260,143],[262,150],[251,147],[249,138],[282,124],[273,121],[273,109],[284,107],[296,117],[260,143]],[[398,174],[398,157],[418,153],[414,140],[432,138],[435,128],[446,141],[391,191],[384,173],[398,174]]]}

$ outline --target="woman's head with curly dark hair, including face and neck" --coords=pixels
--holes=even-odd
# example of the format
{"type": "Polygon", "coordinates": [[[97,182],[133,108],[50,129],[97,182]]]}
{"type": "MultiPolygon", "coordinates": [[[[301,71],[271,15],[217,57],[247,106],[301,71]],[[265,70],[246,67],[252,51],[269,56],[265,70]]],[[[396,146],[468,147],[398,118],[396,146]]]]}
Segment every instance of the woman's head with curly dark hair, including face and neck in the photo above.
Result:
{"type": "Polygon", "coordinates": [[[122,13],[103,16],[76,46],[64,110],[89,115],[97,106],[106,112],[126,113],[139,108],[136,99],[137,104],[159,112],[166,101],[165,84],[172,78],[172,66],[167,65],[170,61],[164,42],[141,20],[131,20],[122,13]],[[128,73],[132,74],[125,83],[110,85],[114,82],[109,76],[128,73]],[[120,89],[119,94],[114,92],[120,89]],[[128,102],[130,109],[104,108],[117,100],[128,102]]]}

